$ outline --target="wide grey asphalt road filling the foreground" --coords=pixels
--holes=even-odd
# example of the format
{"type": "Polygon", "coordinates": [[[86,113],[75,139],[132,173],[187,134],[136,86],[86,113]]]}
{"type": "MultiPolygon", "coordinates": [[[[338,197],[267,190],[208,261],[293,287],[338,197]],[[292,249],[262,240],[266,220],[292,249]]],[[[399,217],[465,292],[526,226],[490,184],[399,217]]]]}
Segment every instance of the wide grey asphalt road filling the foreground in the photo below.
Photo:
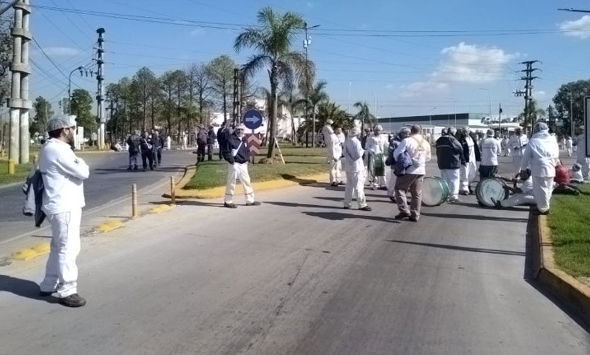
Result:
{"type": "Polygon", "coordinates": [[[371,212],[325,183],[256,195],[84,238],[83,308],[35,296],[45,257],[0,267],[0,354],[590,354],[529,281],[528,207],[412,223],[381,191],[371,212]]]}

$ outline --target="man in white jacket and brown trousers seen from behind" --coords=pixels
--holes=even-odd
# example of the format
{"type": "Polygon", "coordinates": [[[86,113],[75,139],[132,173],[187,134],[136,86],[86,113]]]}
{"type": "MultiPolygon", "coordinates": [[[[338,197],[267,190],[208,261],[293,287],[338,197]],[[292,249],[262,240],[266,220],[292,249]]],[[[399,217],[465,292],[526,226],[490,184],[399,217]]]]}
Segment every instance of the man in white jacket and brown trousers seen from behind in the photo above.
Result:
{"type": "Polygon", "coordinates": [[[417,222],[420,219],[420,207],[422,206],[422,182],[426,175],[426,162],[430,161],[430,144],[422,136],[420,124],[414,124],[410,129],[410,136],[404,139],[393,152],[396,161],[403,161],[401,155],[407,153],[412,165],[405,168],[405,174],[398,175],[395,180],[395,202],[400,211],[394,219],[410,219],[417,222]],[[407,206],[407,191],[410,190],[412,202],[407,206]]]}

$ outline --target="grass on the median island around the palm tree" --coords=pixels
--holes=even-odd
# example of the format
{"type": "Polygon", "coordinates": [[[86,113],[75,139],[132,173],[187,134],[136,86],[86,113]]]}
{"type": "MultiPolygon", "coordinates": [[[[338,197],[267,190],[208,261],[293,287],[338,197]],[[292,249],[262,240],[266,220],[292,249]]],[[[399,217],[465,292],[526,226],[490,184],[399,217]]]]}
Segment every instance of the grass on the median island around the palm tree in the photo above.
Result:
{"type": "MultiPolygon", "coordinates": [[[[258,163],[266,157],[267,149],[260,149],[255,164],[248,165],[248,173],[252,182],[262,182],[277,179],[294,180],[309,175],[328,173],[330,165],[325,163],[325,148],[282,147],[285,164],[277,155],[272,164],[258,163]]],[[[275,149],[275,153],[278,151],[275,149]]],[[[204,190],[226,185],[226,161],[204,161],[190,181],[183,187],[185,190],[204,190]]]]}

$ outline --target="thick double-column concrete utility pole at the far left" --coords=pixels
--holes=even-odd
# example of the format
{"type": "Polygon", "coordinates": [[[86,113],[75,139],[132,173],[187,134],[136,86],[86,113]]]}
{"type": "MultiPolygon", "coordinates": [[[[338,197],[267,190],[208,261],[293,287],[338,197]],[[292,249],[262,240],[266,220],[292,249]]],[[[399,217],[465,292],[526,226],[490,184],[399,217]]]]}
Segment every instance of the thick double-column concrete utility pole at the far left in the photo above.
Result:
{"type": "MultiPolygon", "coordinates": [[[[11,30],[13,37],[13,56],[10,70],[12,72],[10,107],[10,145],[8,159],[13,163],[29,162],[29,0],[13,1],[14,23],[11,30]]],[[[4,11],[6,11],[6,8],[4,11]]]]}

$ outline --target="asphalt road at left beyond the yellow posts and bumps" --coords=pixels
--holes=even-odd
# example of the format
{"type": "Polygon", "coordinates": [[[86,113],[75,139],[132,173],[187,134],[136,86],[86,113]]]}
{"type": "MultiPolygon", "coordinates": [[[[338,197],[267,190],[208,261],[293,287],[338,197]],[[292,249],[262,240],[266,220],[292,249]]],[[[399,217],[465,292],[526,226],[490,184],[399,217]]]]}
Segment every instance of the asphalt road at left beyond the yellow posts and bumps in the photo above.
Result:
{"type": "MultiPolygon", "coordinates": [[[[78,152],[81,158],[90,166],[90,178],[84,182],[84,196],[86,207],[84,216],[91,214],[100,206],[115,204],[120,199],[131,196],[132,184],[137,189],[153,187],[154,185],[166,185],[170,176],[182,176],[186,165],[194,164],[197,156],[191,151],[164,151],[161,167],[154,171],[141,171],[127,169],[127,152],[114,151],[88,151],[78,152]]],[[[141,159],[140,159],[141,160],[141,159]]],[[[141,163],[140,163],[141,165],[141,163]]],[[[0,187],[0,243],[19,235],[37,233],[38,228],[33,225],[33,217],[23,215],[25,195],[21,190],[21,184],[0,187]]],[[[44,223],[47,226],[47,223],[44,223]]]]}

